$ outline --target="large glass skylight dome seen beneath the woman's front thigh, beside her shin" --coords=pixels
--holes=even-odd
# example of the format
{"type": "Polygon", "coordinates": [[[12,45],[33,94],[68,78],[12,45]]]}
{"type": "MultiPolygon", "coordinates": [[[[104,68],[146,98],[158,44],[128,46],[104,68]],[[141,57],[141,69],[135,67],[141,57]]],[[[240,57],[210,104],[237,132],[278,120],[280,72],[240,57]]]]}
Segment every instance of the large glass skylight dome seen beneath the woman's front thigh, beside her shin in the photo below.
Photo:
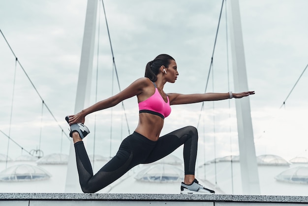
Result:
{"type": "Polygon", "coordinates": [[[140,171],[135,179],[147,182],[179,182],[183,177],[184,172],[173,165],[155,164],[140,171]]]}

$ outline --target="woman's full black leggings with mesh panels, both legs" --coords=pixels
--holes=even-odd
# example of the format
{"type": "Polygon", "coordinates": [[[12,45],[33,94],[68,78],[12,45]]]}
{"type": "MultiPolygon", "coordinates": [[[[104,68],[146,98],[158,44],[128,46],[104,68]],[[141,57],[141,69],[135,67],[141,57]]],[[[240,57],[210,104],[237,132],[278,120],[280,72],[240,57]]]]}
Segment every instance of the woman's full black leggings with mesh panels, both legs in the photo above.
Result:
{"type": "Polygon", "coordinates": [[[198,132],[187,126],[152,141],[134,132],[126,137],[116,156],[93,175],[83,141],[76,142],[76,162],[79,182],[84,193],[94,193],[108,186],[136,165],[155,162],[184,144],[185,174],[194,174],[197,157],[198,132]]]}

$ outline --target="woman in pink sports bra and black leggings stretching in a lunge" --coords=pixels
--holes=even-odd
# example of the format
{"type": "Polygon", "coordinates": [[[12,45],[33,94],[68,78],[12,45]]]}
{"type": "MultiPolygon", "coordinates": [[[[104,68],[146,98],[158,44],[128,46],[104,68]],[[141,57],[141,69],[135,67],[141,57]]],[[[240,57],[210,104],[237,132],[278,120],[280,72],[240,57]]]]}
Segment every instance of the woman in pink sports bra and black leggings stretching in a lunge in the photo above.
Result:
{"type": "Polygon", "coordinates": [[[74,141],[79,181],[83,192],[97,192],[134,166],[155,162],[184,144],[185,176],[181,184],[181,194],[215,193],[200,185],[194,176],[198,145],[197,129],[187,126],[159,137],[164,118],[170,114],[170,105],[173,104],[242,98],[254,92],[166,94],[163,91],[165,83],[174,83],[178,75],[175,60],[167,54],[158,55],[147,64],[145,77],[137,79],[119,94],[65,118],[71,127],[70,137],[74,141]],[[83,125],[85,116],[115,106],[133,96],[137,96],[139,104],[137,128],[132,135],[123,140],[116,156],[93,175],[92,166],[82,141],[82,138],[90,133],[89,129],[83,125]]]}

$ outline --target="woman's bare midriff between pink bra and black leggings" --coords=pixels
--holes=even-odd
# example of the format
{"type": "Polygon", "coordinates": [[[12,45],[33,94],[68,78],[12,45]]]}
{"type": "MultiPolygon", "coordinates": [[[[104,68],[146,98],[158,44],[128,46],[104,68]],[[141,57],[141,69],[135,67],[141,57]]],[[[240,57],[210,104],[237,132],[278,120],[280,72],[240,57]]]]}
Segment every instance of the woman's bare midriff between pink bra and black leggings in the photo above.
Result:
{"type": "Polygon", "coordinates": [[[164,120],[161,117],[150,113],[140,113],[139,123],[135,132],[152,141],[157,141],[163,125],[164,120]]]}

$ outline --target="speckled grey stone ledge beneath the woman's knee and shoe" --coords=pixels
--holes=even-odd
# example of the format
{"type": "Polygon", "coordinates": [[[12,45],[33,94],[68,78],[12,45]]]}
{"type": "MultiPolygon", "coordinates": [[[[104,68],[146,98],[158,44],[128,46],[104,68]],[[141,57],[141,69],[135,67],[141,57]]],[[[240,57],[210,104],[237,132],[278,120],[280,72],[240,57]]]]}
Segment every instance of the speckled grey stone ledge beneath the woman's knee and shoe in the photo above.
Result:
{"type": "Polygon", "coordinates": [[[1,201],[164,201],[164,202],[237,202],[308,203],[306,196],[262,195],[181,195],[181,194],[83,194],[83,193],[0,193],[1,201]]]}

